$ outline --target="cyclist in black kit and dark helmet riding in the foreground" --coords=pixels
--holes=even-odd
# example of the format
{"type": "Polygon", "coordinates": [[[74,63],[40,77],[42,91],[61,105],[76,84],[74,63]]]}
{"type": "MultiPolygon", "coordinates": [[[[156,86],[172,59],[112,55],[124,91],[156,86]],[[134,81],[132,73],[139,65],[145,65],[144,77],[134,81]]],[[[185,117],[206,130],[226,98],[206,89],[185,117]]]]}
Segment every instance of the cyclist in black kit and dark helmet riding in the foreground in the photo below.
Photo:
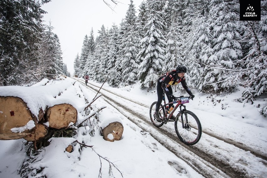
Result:
{"type": "MultiPolygon", "coordinates": [[[[170,72],[165,73],[160,76],[157,84],[157,93],[158,93],[158,102],[156,104],[156,112],[154,113],[154,117],[158,122],[161,122],[159,116],[160,104],[163,99],[163,91],[166,93],[169,102],[173,102],[175,96],[172,95],[171,85],[177,85],[181,82],[183,88],[193,99],[195,95],[192,94],[191,90],[188,88],[185,79],[185,73],[187,72],[186,66],[177,65],[176,69],[170,72]]],[[[169,104],[169,108],[173,106],[173,104],[169,104]]],[[[170,120],[175,120],[175,117],[172,115],[170,120]]]]}

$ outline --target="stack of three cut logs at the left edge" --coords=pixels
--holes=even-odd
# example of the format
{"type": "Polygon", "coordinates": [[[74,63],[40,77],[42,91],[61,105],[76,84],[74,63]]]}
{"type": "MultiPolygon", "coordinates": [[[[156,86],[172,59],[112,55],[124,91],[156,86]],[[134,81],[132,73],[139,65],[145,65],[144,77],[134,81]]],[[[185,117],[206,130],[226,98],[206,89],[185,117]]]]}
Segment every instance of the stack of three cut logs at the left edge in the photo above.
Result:
{"type": "Polygon", "coordinates": [[[38,117],[33,115],[27,104],[18,97],[0,96],[0,140],[11,140],[24,138],[28,141],[43,138],[48,128],[44,123],[49,122],[50,128],[66,128],[69,124],[76,123],[77,110],[70,104],[59,104],[49,107],[43,111],[39,109],[38,117]],[[22,129],[22,132],[12,132],[12,128],[25,127],[33,120],[35,127],[22,129]]]}

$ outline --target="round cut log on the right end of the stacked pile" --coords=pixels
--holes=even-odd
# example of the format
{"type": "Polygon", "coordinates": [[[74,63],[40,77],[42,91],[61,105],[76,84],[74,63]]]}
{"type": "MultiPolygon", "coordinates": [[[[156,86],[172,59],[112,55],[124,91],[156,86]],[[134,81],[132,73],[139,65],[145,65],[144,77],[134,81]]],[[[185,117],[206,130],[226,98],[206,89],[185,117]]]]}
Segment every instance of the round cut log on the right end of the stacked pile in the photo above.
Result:
{"type": "Polygon", "coordinates": [[[51,128],[65,128],[68,127],[71,122],[77,121],[77,110],[70,104],[59,104],[48,108],[47,121],[49,121],[49,127],[51,128]]]}

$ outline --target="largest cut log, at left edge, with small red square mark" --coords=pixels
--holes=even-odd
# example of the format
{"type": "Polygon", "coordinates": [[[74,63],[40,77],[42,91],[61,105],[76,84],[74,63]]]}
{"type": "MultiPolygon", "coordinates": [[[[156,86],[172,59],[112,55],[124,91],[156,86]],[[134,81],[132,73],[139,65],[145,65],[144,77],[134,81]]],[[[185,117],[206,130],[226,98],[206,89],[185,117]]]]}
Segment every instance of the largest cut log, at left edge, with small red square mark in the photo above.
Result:
{"type": "Polygon", "coordinates": [[[0,97],[0,140],[21,139],[32,134],[33,130],[21,133],[11,132],[11,128],[23,127],[32,115],[26,103],[18,97],[0,97]]]}

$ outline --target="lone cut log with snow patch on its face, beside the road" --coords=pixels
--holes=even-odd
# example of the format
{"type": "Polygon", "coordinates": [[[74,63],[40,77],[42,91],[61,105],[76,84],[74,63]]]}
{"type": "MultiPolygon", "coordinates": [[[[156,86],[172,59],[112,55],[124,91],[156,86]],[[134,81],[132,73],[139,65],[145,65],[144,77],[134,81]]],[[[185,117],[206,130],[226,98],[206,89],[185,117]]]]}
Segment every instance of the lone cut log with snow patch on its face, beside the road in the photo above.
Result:
{"type": "Polygon", "coordinates": [[[102,134],[107,141],[120,140],[123,134],[123,125],[119,122],[110,123],[107,127],[102,128],[102,134]]]}

